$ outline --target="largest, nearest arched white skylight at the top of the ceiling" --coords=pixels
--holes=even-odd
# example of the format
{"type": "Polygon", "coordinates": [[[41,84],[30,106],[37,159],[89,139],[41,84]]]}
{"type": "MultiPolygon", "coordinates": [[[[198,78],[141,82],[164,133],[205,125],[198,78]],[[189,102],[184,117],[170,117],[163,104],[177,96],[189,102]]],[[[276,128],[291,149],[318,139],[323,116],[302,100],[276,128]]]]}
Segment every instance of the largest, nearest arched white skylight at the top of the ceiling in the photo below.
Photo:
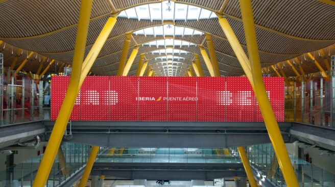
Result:
{"type": "Polygon", "coordinates": [[[172,1],[141,5],[122,11],[118,17],[138,20],[202,20],[216,18],[213,12],[172,1]]]}

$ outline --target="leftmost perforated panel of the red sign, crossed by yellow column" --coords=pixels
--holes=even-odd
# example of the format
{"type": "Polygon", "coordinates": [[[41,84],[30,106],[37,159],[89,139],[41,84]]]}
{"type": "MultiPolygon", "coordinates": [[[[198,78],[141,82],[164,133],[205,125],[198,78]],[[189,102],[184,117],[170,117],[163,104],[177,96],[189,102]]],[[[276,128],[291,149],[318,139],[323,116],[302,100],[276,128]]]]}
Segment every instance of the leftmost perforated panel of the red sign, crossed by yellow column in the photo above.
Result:
{"type": "MultiPolygon", "coordinates": [[[[52,76],[51,77],[51,120],[56,120],[60,107],[62,106],[70,77],[52,76]]],[[[76,99],[75,106],[70,115],[70,120],[80,120],[80,93],[76,99]]]]}

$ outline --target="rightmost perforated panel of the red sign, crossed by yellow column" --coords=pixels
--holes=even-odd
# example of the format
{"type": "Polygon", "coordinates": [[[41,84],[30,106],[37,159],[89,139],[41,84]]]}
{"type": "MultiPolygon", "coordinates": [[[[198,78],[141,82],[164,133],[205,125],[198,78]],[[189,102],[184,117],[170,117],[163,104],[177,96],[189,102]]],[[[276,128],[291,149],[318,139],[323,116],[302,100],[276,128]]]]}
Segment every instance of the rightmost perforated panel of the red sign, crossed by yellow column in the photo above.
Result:
{"type": "MultiPolygon", "coordinates": [[[[277,121],[284,121],[284,78],[263,77],[263,80],[277,121]]],[[[263,121],[263,117],[261,115],[257,102],[256,121],[263,121]]]]}

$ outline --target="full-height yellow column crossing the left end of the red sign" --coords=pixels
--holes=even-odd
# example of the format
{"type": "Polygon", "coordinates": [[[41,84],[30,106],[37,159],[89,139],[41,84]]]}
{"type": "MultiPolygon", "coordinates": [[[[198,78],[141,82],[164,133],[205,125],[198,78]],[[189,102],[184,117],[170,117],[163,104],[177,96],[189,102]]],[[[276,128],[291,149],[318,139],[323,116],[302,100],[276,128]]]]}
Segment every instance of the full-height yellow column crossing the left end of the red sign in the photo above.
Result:
{"type": "Polygon", "coordinates": [[[45,185],[47,177],[49,176],[51,168],[54,164],[68,119],[75,105],[75,101],[78,95],[78,85],[80,81],[82,63],[86,47],[91,7],[92,0],[86,0],[81,2],[75,51],[73,57],[73,69],[71,72],[70,81],[67,87],[64,101],[59,110],[53,131],[50,135],[49,142],[47,143],[43,158],[38,167],[33,187],[41,187],[45,185]]]}

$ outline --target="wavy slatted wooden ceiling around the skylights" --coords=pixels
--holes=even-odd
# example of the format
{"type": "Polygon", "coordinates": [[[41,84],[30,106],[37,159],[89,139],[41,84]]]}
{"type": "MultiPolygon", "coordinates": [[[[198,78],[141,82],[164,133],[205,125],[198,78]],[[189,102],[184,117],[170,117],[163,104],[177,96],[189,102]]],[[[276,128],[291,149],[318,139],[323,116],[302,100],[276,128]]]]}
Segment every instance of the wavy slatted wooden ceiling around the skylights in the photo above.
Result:
{"type": "MultiPolygon", "coordinates": [[[[161,1],[111,0],[111,2],[116,9],[124,10],[140,4],[159,3],[161,1]]],[[[199,6],[210,11],[218,11],[224,1],[178,0],[175,2],[199,6]]],[[[325,48],[335,43],[335,6],[316,0],[269,0],[266,2],[253,0],[252,4],[262,67],[268,67],[280,61],[299,56],[302,53],[325,48]]],[[[79,8],[79,0],[9,0],[0,3],[0,11],[2,12],[0,17],[0,24],[2,25],[0,27],[0,39],[15,47],[35,51],[41,55],[71,64],[79,8]]],[[[93,1],[86,54],[98,37],[110,11],[111,9],[106,0],[93,1]]],[[[223,13],[228,17],[227,19],[238,40],[247,52],[238,0],[228,0],[223,13]]],[[[161,21],[138,21],[137,19],[118,18],[91,71],[99,75],[115,75],[125,38],[124,33],[156,25],[161,25],[161,21]]],[[[217,19],[175,21],[175,25],[195,28],[213,35],[212,39],[221,75],[240,76],[244,74],[217,19]]],[[[162,38],[161,36],[145,37],[134,35],[134,39],[138,44],[162,38]]],[[[200,44],[204,40],[204,36],[180,36],[176,37],[176,39],[200,44]]],[[[132,42],[131,46],[133,47],[134,45],[135,43],[132,42]]],[[[128,55],[130,55],[132,47],[128,55]]],[[[162,49],[163,47],[160,48],[162,49]]],[[[146,57],[151,59],[155,56],[157,57],[157,55],[150,53],[156,49],[157,47],[155,46],[141,46],[138,56],[131,67],[130,75],[135,74],[139,54],[147,53],[146,57]]],[[[200,53],[199,48],[196,46],[183,46],[180,49],[191,52],[187,55],[181,55],[189,59],[193,59],[192,53],[200,53]]],[[[202,58],[201,62],[205,74],[208,75],[202,58]]],[[[303,65],[303,68],[306,73],[317,71],[315,67],[310,68],[303,65]]],[[[285,71],[290,72],[290,70],[285,71]]]]}

